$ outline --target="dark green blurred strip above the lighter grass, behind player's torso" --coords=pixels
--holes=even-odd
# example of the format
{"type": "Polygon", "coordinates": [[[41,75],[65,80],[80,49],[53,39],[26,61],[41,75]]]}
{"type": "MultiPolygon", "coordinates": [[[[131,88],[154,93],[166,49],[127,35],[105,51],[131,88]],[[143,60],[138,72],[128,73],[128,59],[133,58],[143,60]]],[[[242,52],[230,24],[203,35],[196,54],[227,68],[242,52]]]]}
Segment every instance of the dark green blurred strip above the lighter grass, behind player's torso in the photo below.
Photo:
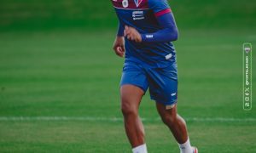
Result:
{"type": "MultiPolygon", "coordinates": [[[[109,1],[1,0],[1,31],[113,30],[117,20],[109,1]]],[[[255,27],[255,2],[170,1],[180,29],[234,30],[255,27]]]]}

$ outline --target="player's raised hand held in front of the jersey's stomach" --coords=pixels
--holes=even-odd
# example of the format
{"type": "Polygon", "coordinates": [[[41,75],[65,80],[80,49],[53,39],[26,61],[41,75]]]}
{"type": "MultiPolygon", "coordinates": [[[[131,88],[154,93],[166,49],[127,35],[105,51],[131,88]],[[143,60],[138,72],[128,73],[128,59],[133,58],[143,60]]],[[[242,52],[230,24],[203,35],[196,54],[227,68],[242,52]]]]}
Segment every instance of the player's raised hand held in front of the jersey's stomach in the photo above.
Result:
{"type": "Polygon", "coordinates": [[[134,42],[142,42],[141,34],[131,26],[125,26],[125,37],[134,42]]]}

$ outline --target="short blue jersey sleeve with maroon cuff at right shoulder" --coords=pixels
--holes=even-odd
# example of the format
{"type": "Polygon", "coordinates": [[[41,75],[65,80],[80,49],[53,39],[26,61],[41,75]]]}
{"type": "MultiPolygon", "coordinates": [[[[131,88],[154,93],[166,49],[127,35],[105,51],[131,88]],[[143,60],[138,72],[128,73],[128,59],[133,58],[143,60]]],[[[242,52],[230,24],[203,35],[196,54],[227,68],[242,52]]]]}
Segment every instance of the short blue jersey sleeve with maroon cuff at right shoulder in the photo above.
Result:
{"type": "Polygon", "coordinates": [[[148,6],[154,11],[155,17],[172,12],[167,0],[148,0],[148,6]]]}

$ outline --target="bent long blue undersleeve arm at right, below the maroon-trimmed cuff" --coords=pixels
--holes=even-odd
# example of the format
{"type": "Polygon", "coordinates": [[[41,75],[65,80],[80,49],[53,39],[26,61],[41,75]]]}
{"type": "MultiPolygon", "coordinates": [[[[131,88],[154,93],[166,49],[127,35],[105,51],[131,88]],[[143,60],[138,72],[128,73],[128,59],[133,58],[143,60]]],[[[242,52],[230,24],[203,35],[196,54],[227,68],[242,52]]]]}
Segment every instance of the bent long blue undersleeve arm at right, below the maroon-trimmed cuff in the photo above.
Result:
{"type": "Polygon", "coordinates": [[[160,27],[154,33],[141,34],[142,42],[172,42],[177,40],[177,26],[172,13],[162,14],[156,18],[160,27]]]}

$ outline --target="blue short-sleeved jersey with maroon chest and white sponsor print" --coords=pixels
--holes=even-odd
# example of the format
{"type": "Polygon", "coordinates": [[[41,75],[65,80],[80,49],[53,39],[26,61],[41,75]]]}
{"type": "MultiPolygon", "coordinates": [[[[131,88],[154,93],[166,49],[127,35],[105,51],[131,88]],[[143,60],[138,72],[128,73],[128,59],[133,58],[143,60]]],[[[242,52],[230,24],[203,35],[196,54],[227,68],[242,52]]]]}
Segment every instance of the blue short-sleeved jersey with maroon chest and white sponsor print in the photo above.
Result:
{"type": "MultiPolygon", "coordinates": [[[[166,0],[112,0],[119,19],[119,35],[122,27],[131,26],[142,35],[143,42],[125,38],[125,62],[135,61],[150,67],[176,67],[176,51],[170,41],[150,41],[154,33],[163,30],[157,19],[171,13],[166,0]]],[[[163,31],[165,32],[165,31],[163,31]]],[[[171,31],[172,32],[172,31],[171,31]]],[[[162,33],[165,35],[165,33],[162,33]]]]}

